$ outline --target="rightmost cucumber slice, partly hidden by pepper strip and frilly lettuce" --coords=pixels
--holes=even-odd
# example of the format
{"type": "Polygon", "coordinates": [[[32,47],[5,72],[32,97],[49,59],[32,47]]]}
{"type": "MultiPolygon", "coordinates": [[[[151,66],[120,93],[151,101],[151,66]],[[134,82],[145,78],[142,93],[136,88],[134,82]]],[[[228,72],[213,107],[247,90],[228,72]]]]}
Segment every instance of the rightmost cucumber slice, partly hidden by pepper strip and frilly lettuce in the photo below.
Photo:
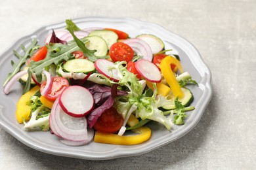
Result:
{"type": "MultiPolygon", "coordinates": [[[[194,96],[188,88],[181,88],[181,90],[182,90],[184,97],[182,99],[179,99],[179,101],[181,101],[181,104],[184,107],[188,107],[194,100],[194,96]]],[[[171,95],[167,96],[167,99],[173,100],[173,104],[172,105],[164,105],[164,106],[162,106],[162,108],[165,110],[175,109],[175,105],[174,105],[174,101],[176,99],[175,96],[173,94],[171,94],[171,95]]]]}

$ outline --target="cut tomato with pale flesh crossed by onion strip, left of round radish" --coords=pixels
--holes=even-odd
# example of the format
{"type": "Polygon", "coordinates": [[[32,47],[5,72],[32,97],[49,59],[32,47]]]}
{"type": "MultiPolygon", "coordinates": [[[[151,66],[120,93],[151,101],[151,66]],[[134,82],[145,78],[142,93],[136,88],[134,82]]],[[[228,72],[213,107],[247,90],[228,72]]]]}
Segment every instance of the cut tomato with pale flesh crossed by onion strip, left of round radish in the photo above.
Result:
{"type": "MultiPolygon", "coordinates": [[[[43,88],[45,88],[45,84],[46,82],[43,82],[43,84],[41,84],[40,92],[42,92],[43,88]]],[[[44,97],[51,101],[54,101],[68,86],[69,82],[66,78],[63,78],[61,76],[54,76],[52,88],[44,97]]]]}

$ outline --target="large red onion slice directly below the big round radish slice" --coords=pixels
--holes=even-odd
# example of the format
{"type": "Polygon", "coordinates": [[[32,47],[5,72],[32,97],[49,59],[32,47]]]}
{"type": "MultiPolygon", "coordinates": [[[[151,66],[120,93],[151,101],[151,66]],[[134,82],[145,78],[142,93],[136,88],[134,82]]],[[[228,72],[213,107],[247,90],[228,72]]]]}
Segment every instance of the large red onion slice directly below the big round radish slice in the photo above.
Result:
{"type": "Polygon", "coordinates": [[[51,111],[51,127],[54,127],[55,133],[68,141],[87,140],[87,119],[85,117],[74,118],[66,114],[58,104],[58,100],[56,103],[56,109],[51,111]]]}

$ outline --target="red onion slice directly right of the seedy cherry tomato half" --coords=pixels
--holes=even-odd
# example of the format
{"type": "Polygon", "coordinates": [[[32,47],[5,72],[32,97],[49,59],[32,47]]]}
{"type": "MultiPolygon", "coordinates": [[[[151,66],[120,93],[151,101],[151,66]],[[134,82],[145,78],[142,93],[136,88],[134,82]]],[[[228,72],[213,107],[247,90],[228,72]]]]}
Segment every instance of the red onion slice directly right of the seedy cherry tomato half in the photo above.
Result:
{"type": "Polygon", "coordinates": [[[146,43],[145,41],[141,39],[133,38],[133,39],[125,39],[122,42],[131,46],[131,48],[133,48],[133,51],[136,52],[137,56],[142,56],[143,59],[152,61],[152,58],[153,58],[152,50],[148,45],[148,43],[146,43]]]}

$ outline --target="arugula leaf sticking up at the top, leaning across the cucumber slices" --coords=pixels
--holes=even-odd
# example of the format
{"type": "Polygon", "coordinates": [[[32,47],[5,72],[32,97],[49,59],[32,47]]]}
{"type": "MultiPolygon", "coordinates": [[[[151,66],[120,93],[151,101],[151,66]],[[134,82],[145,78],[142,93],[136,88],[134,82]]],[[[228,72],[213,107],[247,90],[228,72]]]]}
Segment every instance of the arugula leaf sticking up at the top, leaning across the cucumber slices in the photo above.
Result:
{"type": "Polygon", "coordinates": [[[74,31],[76,30],[75,28],[77,27],[74,22],[72,22],[72,20],[66,20],[66,29],[68,29],[68,31],[70,31],[71,35],[74,38],[74,41],[76,42],[77,46],[79,46],[79,48],[83,51],[83,55],[87,56],[87,58],[91,61],[96,61],[96,59],[98,59],[98,57],[95,56],[95,52],[96,50],[89,50],[86,46],[85,43],[83,43],[83,41],[81,41],[80,39],[78,39],[75,34],[74,31]]]}

